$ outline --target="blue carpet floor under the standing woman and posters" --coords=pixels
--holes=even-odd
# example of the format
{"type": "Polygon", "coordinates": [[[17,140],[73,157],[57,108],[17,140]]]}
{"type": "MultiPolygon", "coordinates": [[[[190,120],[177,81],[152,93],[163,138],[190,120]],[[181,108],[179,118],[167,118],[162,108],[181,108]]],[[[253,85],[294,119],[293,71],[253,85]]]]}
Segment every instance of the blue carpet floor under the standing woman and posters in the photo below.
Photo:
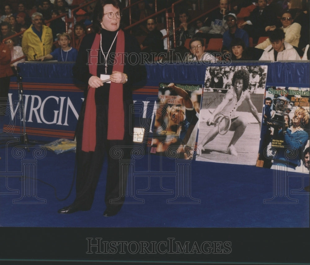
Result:
{"type": "Polygon", "coordinates": [[[131,193],[116,216],[103,216],[104,174],[90,211],[61,215],[57,210],[75,198],[75,154],[29,149],[0,148],[3,227],[309,227],[308,175],[288,175],[279,194],[270,169],[148,155],[135,159],[131,193]],[[179,182],[177,165],[185,167],[187,183],[179,182]]]}

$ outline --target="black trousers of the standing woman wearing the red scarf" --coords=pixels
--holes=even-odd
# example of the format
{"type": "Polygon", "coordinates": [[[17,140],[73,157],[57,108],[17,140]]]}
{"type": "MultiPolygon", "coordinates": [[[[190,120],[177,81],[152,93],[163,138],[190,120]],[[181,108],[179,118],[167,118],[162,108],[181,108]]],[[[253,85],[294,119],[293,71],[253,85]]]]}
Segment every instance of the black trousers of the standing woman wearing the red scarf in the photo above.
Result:
{"type": "Polygon", "coordinates": [[[77,180],[76,199],[83,208],[91,208],[95,190],[102,171],[104,157],[108,159],[106,174],[105,204],[107,208],[120,210],[125,200],[127,172],[123,171],[122,160],[131,157],[132,134],[129,106],[132,101],[124,102],[125,135],[123,140],[107,140],[108,105],[96,106],[96,147],[94,152],[84,152],[82,146],[82,125],[84,113],[81,113],[77,128],[77,180]]]}

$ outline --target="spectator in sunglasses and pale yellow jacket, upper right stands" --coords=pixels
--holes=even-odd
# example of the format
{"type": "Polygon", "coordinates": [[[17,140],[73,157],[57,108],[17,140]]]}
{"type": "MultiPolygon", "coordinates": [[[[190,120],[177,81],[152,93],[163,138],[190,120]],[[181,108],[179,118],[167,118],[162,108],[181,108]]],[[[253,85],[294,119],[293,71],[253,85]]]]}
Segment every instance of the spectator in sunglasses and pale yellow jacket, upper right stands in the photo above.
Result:
{"type": "MultiPolygon", "coordinates": [[[[299,23],[294,23],[294,19],[292,16],[292,11],[283,11],[281,14],[281,23],[283,32],[285,33],[284,41],[289,43],[292,46],[298,47],[299,38],[300,38],[300,30],[301,25],[299,23]]],[[[266,31],[273,31],[276,26],[268,26],[266,27],[266,31]]],[[[269,38],[262,43],[259,43],[255,46],[258,49],[265,49],[271,44],[269,38]]]]}

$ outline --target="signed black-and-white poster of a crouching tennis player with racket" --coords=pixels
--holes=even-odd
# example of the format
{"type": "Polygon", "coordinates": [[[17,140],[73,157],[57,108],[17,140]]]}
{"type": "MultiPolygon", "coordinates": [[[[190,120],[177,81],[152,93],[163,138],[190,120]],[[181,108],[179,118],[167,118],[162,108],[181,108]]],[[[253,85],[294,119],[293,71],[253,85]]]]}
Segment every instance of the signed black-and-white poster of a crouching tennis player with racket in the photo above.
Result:
{"type": "Polygon", "coordinates": [[[206,68],[197,161],[255,165],[267,66],[206,68]]]}

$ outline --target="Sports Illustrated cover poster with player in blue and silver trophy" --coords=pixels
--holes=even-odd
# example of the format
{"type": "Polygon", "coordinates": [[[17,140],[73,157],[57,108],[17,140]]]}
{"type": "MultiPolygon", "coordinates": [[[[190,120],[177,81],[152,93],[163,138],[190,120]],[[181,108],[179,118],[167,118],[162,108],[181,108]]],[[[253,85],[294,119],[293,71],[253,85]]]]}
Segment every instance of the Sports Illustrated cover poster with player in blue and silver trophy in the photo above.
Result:
{"type": "Polygon", "coordinates": [[[257,166],[309,174],[309,106],[309,88],[266,88],[257,166]]]}

